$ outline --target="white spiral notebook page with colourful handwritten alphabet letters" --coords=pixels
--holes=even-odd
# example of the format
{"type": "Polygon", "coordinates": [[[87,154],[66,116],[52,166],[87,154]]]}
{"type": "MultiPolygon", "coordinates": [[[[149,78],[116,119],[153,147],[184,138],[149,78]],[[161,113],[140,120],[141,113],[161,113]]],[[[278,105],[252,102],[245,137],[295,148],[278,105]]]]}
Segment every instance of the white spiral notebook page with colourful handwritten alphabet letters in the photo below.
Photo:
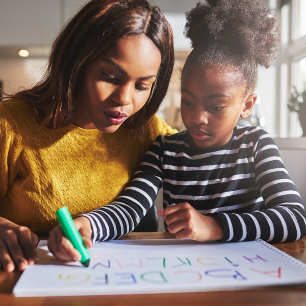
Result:
{"type": "Polygon", "coordinates": [[[198,292],[306,284],[306,265],[262,241],[117,240],[89,249],[88,268],[62,263],[46,241],[15,296],[198,292]]]}

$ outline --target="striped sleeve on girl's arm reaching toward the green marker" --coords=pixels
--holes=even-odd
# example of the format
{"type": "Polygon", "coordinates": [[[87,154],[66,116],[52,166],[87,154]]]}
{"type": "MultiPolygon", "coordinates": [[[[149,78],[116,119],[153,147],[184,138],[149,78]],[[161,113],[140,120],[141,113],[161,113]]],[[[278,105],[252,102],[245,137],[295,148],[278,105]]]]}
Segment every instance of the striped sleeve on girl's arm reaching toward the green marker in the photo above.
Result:
{"type": "Polygon", "coordinates": [[[83,214],[90,220],[94,242],[119,239],[132,232],[154,203],[163,184],[163,139],[160,135],[132,181],[112,203],[83,214]]]}

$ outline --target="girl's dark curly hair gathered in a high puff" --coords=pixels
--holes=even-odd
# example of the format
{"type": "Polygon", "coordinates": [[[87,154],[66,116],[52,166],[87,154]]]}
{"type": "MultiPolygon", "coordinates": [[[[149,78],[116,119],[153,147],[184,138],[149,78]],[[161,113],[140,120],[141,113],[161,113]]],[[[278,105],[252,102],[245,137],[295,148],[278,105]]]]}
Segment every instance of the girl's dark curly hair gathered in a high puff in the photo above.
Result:
{"type": "Polygon", "coordinates": [[[254,90],[258,65],[270,66],[280,42],[275,13],[255,0],[207,0],[186,17],[185,36],[193,50],[182,73],[193,64],[230,66],[246,92],[254,90]]]}

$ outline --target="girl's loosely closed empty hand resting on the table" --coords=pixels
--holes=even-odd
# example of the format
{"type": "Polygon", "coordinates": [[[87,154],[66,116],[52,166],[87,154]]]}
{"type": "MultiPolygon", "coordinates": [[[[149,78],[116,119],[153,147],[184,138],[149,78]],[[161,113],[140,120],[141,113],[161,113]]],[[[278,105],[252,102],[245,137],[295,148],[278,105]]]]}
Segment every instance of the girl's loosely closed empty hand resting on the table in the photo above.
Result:
{"type": "Polygon", "coordinates": [[[177,239],[211,241],[224,236],[219,217],[204,216],[186,202],[169,206],[157,214],[164,217],[169,233],[175,234],[177,239]]]}

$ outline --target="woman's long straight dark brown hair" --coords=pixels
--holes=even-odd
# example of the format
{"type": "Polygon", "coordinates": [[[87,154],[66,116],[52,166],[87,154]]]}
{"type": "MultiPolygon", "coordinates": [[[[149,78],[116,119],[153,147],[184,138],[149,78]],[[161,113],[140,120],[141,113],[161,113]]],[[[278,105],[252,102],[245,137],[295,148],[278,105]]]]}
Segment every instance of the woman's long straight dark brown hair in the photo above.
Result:
{"type": "Polygon", "coordinates": [[[12,95],[31,105],[39,123],[60,129],[73,120],[78,82],[87,64],[119,39],[145,34],[159,48],[162,62],[144,107],[126,120],[127,129],[142,133],[166,95],[174,65],[172,30],[160,9],[146,0],[92,0],[56,38],[43,79],[32,89],[12,95]]]}

